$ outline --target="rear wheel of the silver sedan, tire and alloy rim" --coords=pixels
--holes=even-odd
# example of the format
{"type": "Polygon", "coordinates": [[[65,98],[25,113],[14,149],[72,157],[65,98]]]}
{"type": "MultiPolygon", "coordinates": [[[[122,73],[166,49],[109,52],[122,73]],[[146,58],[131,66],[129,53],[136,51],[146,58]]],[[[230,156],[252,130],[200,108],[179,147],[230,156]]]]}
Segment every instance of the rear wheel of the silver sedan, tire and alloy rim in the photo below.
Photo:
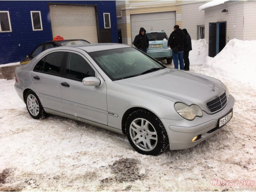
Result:
{"type": "Polygon", "coordinates": [[[26,94],[26,106],[28,113],[34,119],[42,119],[46,116],[44,108],[38,98],[38,96],[32,90],[26,94]]]}

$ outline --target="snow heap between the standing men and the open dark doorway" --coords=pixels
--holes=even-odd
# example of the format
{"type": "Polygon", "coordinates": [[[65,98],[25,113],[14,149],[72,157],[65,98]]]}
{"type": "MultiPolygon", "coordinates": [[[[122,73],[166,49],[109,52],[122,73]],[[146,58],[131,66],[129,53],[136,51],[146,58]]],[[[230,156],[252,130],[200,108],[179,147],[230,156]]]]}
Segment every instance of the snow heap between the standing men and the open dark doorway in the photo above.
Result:
{"type": "Polygon", "coordinates": [[[203,65],[208,56],[208,44],[206,39],[191,40],[192,51],[189,52],[191,65],[203,65]]]}

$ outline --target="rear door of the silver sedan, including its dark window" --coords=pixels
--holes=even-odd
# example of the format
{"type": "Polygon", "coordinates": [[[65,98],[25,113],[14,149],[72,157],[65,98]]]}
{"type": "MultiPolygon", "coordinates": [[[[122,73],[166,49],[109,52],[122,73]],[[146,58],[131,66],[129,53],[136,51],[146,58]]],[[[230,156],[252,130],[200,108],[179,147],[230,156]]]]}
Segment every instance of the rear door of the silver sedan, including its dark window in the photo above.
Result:
{"type": "Polygon", "coordinates": [[[64,51],[50,52],[34,66],[30,78],[43,107],[63,112],[60,92],[60,70],[64,51]]]}

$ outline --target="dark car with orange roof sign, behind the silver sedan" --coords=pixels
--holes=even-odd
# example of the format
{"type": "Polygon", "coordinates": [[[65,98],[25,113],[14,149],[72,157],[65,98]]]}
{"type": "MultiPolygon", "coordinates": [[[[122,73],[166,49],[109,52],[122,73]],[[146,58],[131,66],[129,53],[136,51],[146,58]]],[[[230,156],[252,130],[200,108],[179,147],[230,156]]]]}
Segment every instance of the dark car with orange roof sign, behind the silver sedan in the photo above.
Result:
{"type": "Polygon", "coordinates": [[[64,40],[61,36],[54,37],[53,41],[47,41],[45,43],[42,43],[38,45],[31,54],[27,55],[26,58],[20,62],[20,65],[28,64],[35,56],[43,52],[44,50],[54,48],[54,47],[60,47],[60,46],[78,46],[78,45],[85,45],[89,44],[90,42],[83,40],[83,39],[70,39],[70,40],[64,40]]]}

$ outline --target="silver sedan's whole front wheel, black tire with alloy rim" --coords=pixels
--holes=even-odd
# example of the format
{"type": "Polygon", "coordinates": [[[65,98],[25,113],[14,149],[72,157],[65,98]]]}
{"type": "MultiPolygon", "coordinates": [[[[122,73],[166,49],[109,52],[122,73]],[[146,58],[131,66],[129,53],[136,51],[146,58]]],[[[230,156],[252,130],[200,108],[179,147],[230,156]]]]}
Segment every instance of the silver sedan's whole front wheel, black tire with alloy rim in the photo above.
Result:
{"type": "Polygon", "coordinates": [[[126,136],[132,147],[145,155],[161,154],[169,145],[160,119],[147,110],[136,110],[126,121],[126,136]]]}

